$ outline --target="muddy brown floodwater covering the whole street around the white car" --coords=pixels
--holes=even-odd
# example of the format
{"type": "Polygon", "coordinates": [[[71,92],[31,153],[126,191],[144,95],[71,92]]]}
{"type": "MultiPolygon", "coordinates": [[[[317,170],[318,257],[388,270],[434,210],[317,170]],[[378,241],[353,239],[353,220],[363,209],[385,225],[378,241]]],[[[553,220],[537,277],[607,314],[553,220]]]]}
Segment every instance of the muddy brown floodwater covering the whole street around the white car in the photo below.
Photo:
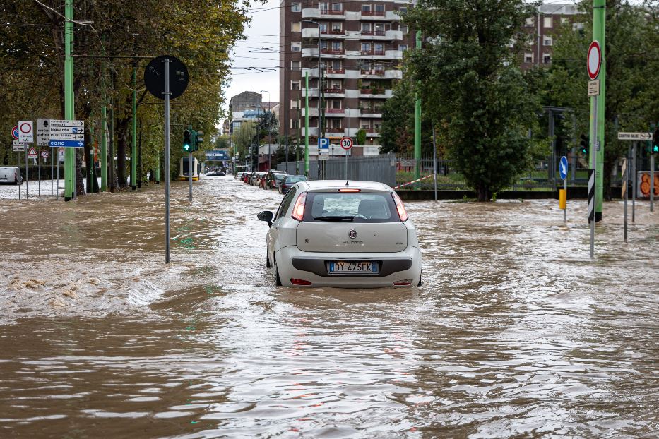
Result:
{"type": "Polygon", "coordinates": [[[659,435],[647,202],[628,243],[605,203],[594,261],[583,200],[410,202],[422,287],[288,289],[282,196],[174,183],[166,266],[163,193],[0,195],[0,437],[659,435]]]}

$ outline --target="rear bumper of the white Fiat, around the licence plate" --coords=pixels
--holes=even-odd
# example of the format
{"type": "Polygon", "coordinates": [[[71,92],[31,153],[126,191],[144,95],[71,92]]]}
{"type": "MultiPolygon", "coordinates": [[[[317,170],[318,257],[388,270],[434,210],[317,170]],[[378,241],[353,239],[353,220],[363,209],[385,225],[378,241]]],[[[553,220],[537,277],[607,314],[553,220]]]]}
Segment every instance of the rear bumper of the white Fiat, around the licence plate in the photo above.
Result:
{"type": "Polygon", "coordinates": [[[417,247],[396,253],[315,253],[288,246],[275,258],[281,282],[289,287],[293,286],[291,278],[307,280],[314,287],[344,288],[393,287],[395,282],[412,279],[406,286],[415,287],[421,277],[421,251],[417,247]],[[379,273],[328,274],[327,263],[337,260],[377,262],[379,273]]]}

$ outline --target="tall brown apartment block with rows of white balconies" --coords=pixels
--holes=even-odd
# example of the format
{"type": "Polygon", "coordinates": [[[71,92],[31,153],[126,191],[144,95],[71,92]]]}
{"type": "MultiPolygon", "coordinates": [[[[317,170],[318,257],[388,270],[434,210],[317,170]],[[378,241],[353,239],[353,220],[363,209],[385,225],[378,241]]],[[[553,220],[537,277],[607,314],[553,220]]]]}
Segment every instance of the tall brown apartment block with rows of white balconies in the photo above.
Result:
{"type": "Polygon", "coordinates": [[[338,145],[363,129],[366,145],[352,154],[377,154],[382,106],[403,78],[403,52],[414,42],[400,22],[408,1],[283,0],[280,6],[280,133],[304,136],[308,76],[310,145],[319,135],[338,145]]]}

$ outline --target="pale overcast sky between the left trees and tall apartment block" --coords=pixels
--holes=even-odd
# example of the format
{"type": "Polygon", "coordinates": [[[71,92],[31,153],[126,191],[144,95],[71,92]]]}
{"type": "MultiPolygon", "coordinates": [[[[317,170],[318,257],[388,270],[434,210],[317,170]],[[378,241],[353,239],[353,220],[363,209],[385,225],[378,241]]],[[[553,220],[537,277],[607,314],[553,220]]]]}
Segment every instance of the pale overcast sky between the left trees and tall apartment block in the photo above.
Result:
{"type": "Polygon", "coordinates": [[[266,90],[270,96],[263,92],[263,101],[279,101],[279,0],[255,3],[251,12],[251,23],[244,32],[247,40],[238,42],[232,52],[232,79],[226,90],[225,109],[232,96],[244,91],[266,90]],[[250,67],[253,69],[246,69],[250,67]],[[255,67],[271,71],[257,71],[255,67]]]}

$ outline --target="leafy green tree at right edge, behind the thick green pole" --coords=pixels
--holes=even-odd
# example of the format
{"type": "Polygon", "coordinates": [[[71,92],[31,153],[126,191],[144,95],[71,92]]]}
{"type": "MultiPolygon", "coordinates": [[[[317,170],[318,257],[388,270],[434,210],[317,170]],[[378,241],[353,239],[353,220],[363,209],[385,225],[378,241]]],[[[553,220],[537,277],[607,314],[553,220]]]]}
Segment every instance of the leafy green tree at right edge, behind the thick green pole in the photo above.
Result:
{"type": "MultiPolygon", "coordinates": [[[[655,2],[656,3],[656,2],[655,2]]],[[[583,28],[564,28],[554,47],[550,95],[554,102],[574,109],[573,144],[588,134],[590,100],[586,97],[586,53],[592,40],[593,5],[582,1],[583,28]]],[[[611,175],[628,141],[617,131],[649,131],[659,121],[659,23],[656,8],[608,0],[606,4],[606,99],[604,196],[611,199],[611,175]]],[[[566,123],[572,124],[571,120],[566,123]]]]}

